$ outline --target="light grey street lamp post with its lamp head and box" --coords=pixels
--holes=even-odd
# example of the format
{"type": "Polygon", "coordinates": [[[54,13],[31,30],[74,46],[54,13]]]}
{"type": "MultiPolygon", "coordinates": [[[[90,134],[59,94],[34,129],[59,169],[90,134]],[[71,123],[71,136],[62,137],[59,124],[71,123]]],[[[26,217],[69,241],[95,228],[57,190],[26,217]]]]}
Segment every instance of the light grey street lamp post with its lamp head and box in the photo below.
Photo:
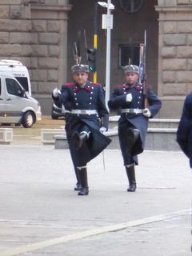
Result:
{"type": "Polygon", "coordinates": [[[102,7],[107,8],[107,14],[102,15],[102,29],[106,30],[106,107],[110,99],[110,30],[113,29],[113,15],[111,10],[114,10],[114,5],[110,0],[106,2],[98,2],[102,7]]]}

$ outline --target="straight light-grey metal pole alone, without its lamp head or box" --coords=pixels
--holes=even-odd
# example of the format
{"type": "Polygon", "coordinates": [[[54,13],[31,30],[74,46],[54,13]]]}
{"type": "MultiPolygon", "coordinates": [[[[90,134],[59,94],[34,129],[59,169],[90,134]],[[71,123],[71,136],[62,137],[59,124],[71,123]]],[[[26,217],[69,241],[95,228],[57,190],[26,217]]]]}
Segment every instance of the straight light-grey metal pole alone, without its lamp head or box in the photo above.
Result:
{"type": "Polygon", "coordinates": [[[107,20],[106,20],[106,108],[109,110],[107,102],[110,99],[110,0],[107,1],[107,20]]]}

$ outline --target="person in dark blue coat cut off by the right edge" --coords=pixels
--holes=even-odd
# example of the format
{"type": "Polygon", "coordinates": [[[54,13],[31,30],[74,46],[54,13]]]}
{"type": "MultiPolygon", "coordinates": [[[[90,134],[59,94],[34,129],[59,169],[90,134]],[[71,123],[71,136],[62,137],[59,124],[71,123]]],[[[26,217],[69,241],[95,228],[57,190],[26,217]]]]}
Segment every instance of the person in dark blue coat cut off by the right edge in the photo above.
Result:
{"type": "Polygon", "coordinates": [[[190,159],[190,168],[192,168],[192,92],[186,96],[183,105],[182,117],[178,123],[177,142],[190,159]]]}

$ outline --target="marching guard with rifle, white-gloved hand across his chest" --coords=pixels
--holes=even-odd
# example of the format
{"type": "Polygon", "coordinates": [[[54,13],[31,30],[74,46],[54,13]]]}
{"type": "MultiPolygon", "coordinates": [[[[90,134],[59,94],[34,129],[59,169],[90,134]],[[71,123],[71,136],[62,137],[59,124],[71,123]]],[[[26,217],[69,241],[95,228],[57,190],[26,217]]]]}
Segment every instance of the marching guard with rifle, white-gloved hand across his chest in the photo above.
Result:
{"type": "Polygon", "coordinates": [[[138,82],[139,68],[135,65],[125,67],[126,83],[115,86],[108,102],[110,109],[121,110],[118,121],[118,138],[124,166],[129,181],[127,191],[136,190],[134,165],[138,165],[138,154],[144,150],[148,118],[153,118],[162,106],[151,86],[147,86],[147,108],[144,108],[144,90],[138,82]]]}

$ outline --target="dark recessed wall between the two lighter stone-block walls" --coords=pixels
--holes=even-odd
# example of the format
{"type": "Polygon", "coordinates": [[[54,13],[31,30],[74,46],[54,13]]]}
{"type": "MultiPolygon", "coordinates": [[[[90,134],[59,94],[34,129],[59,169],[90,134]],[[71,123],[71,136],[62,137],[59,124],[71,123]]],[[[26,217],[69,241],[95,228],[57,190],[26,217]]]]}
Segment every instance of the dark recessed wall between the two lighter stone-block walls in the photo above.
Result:
{"type": "MultiPolygon", "coordinates": [[[[154,9],[158,1],[111,1],[114,3],[114,26],[111,30],[111,90],[118,83],[124,82],[122,66],[139,64],[139,45],[144,42],[144,31],[147,34],[147,77],[149,82],[158,90],[158,13],[154,9]],[[124,2],[124,4],[123,4],[124,2]],[[125,2],[138,2],[129,9],[125,2]],[[127,7],[127,9],[126,9],[127,7]],[[138,7],[138,8],[137,8],[138,7]],[[134,10],[135,9],[135,10],[134,10]],[[124,59],[122,59],[124,58],[124,59]]],[[[94,44],[94,0],[70,0],[72,10],[68,24],[68,53],[69,68],[74,63],[72,45],[77,38],[78,30],[82,31],[82,61],[86,62],[86,48],[83,30],[86,30],[87,46],[94,44]],[[82,5],[83,2],[83,5],[82,5]]],[[[105,83],[106,65],[106,30],[102,30],[102,14],[106,8],[98,6],[98,82],[105,83]]],[[[68,71],[70,73],[70,70],[68,71]]]]}

